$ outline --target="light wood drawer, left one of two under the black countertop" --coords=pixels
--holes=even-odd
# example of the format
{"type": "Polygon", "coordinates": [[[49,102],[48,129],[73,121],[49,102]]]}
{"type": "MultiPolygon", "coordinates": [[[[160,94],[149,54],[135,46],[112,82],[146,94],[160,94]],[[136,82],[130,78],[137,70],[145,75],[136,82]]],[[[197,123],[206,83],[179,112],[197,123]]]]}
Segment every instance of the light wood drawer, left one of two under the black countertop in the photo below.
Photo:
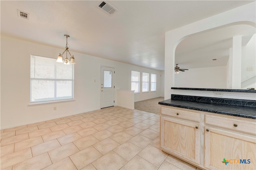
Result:
{"type": "Polygon", "coordinates": [[[181,119],[188,119],[192,121],[200,121],[200,114],[192,111],[161,107],[161,114],[169,115],[181,119]]]}

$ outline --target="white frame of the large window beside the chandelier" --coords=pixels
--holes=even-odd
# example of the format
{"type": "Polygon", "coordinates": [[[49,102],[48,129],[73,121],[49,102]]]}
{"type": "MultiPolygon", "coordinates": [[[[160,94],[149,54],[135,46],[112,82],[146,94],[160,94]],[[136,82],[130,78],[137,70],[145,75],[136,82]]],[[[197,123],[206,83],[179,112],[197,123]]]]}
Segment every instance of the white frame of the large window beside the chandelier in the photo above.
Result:
{"type": "MultiPolygon", "coordinates": [[[[32,69],[32,65],[31,65],[31,59],[32,57],[43,57],[46,59],[52,59],[54,61],[56,61],[56,59],[51,58],[51,57],[44,57],[44,56],[40,56],[40,55],[30,55],[30,105],[40,105],[40,104],[48,104],[48,103],[57,103],[57,102],[68,102],[68,101],[74,101],[74,64],[70,64],[72,65],[72,79],[64,79],[64,78],[56,78],[56,66],[54,66],[54,78],[32,78],[31,75],[31,69],[32,69]],[[42,101],[32,101],[32,80],[46,80],[46,81],[53,81],[54,82],[54,97],[53,100],[42,100],[42,101]],[[63,98],[61,99],[60,97],[57,97],[57,82],[58,81],[71,81],[71,97],[70,98],[63,98]]],[[[63,63],[57,63],[56,64],[63,64],[63,63]]],[[[63,64],[65,65],[65,64],[63,64]]],[[[34,69],[36,69],[36,66],[34,64],[34,69]]]]}

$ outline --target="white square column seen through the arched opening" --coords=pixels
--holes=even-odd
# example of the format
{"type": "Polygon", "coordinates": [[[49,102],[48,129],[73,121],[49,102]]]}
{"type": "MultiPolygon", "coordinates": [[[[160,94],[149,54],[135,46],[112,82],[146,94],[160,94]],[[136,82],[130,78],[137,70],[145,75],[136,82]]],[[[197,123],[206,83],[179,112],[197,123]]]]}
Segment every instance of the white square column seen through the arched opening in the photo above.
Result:
{"type": "Polygon", "coordinates": [[[232,89],[241,89],[242,35],[233,37],[232,89]]]}

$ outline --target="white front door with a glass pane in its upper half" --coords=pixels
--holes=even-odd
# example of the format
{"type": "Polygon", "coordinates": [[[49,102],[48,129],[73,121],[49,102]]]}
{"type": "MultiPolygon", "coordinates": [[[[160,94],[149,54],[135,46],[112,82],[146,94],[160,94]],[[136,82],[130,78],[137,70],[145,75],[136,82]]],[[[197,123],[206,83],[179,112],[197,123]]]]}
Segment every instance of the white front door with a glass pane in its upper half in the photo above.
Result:
{"type": "Polygon", "coordinates": [[[115,69],[101,66],[100,108],[114,106],[115,69]]]}

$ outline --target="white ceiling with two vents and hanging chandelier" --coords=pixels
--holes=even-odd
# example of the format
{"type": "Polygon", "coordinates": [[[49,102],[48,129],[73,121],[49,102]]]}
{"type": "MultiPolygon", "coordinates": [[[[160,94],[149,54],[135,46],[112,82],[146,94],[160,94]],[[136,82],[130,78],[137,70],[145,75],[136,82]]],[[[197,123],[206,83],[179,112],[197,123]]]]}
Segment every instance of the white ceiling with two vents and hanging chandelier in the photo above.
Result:
{"type": "MultiPolygon", "coordinates": [[[[100,2],[102,1],[1,0],[1,35],[64,50],[66,38],[63,35],[68,34],[70,35],[68,44],[70,45],[71,53],[74,51],[123,63],[164,70],[164,35],[166,31],[252,1],[114,0],[108,1],[118,9],[118,12],[112,16],[98,7],[100,2]],[[30,20],[18,17],[17,10],[29,13],[30,20]]],[[[222,41],[225,43],[233,36],[232,34],[225,37],[219,36],[220,39],[218,39],[218,36],[214,35],[214,33],[216,32],[208,33],[209,39],[204,38],[206,35],[198,35],[201,38],[190,37],[187,41],[182,41],[176,51],[178,57],[180,56],[180,61],[178,62],[191,63],[192,60],[197,61],[198,59],[193,59],[193,55],[188,55],[189,51],[198,49],[198,51],[201,50],[203,52],[206,50],[203,49],[205,48],[204,44],[216,45],[217,42],[222,41]],[[197,41],[199,39],[204,39],[204,41],[197,41]],[[208,41],[206,42],[205,40],[208,41]],[[191,42],[193,42],[194,46],[189,47],[191,42]],[[198,44],[198,47],[196,47],[196,44],[198,44]],[[199,48],[201,49],[199,50],[199,48]]],[[[225,35],[226,33],[222,34],[225,35]]],[[[234,31],[234,34],[236,34],[236,31],[234,31]]],[[[210,49],[212,50],[212,48],[210,49]]],[[[216,49],[218,48],[216,47],[216,49]]],[[[224,57],[221,56],[219,58],[224,57]]],[[[195,65],[192,67],[195,67],[195,65]]]]}

